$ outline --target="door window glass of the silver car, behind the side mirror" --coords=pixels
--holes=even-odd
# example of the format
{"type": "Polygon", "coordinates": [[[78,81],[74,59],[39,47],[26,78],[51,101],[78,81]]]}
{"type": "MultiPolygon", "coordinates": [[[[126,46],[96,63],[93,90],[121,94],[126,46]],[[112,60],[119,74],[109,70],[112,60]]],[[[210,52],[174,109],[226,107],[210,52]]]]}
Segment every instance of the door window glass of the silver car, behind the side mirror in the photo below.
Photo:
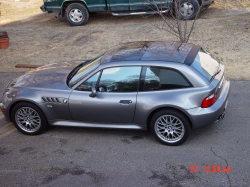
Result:
{"type": "Polygon", "coordinates": [[[99,82],[100,92],[137,91],[141,67],[114,67],[104,69],[99,82]]]}

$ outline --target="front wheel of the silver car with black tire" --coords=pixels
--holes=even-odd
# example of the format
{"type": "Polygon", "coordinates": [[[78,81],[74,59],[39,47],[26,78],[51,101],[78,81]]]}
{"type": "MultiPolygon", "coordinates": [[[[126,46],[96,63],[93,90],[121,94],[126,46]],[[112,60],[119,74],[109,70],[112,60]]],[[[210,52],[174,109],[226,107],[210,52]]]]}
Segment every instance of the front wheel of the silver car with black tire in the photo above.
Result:
{"type": "Polygon", "coordinates": [[[41,134],[48,127],[47,119],[41,109],[28,102],[21,102],[14,106],[11,120],[15,127],[26,135],[41,134]]]}

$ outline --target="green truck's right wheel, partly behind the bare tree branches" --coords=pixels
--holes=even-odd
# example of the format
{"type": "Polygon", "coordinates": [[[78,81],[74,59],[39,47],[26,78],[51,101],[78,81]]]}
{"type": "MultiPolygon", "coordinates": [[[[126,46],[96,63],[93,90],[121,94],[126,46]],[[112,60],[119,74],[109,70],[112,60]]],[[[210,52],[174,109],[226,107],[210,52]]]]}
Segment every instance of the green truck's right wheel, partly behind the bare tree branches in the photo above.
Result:
{"type": "MultiPolygon", "coordinates": [[[[180,20],[186,20],[186,19],[187,20],[194,20],[196,18],[198,11],[199,11],[199,8],[200,8],[200,4],[197,0],[181,0],[180,4],[177,5],[177,9],[180,10],[180,11],[177,11],[179,13],[180,20]],[[190,15],[187,15],[187,16],[182,11],[182,7],[184,7],[185,4],[192,7],[190,10],[192,13],[190,13],[190,15]]],[[[175,10],[174,5],[173,5],[173,12],[176,14],[176,10],[175,10]]]]}

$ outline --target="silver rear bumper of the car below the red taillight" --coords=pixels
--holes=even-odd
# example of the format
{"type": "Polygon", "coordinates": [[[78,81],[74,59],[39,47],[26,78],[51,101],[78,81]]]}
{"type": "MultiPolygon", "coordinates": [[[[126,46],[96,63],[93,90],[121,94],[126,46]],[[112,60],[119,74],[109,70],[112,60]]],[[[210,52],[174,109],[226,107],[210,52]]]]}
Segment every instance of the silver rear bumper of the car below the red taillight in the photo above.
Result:
{"type": "Polygon", "coordinates": [[[219,98],[211,107],[197,107],[187,110],[187,113],[189,114],[192,121],[193,128],[200,128],[224,118],[228,103],[229,91],[230,81],[225,80],[219,98]]]}

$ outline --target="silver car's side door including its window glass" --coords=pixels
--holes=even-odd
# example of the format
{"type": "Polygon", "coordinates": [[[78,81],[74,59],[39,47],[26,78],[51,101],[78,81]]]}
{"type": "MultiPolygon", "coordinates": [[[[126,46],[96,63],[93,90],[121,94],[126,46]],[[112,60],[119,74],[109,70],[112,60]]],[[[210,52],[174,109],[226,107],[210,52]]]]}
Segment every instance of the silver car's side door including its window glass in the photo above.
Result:
{"type": "Polygon", "coordinates": [[[80,84],[70,95],[72,118],[82,122],[132,123],[141,67],[104,69],[80,84]],[[98,83],[99,82],[99,83],[98,83]],[[95,97],[90,97],[96,87],[95,97]]]}

